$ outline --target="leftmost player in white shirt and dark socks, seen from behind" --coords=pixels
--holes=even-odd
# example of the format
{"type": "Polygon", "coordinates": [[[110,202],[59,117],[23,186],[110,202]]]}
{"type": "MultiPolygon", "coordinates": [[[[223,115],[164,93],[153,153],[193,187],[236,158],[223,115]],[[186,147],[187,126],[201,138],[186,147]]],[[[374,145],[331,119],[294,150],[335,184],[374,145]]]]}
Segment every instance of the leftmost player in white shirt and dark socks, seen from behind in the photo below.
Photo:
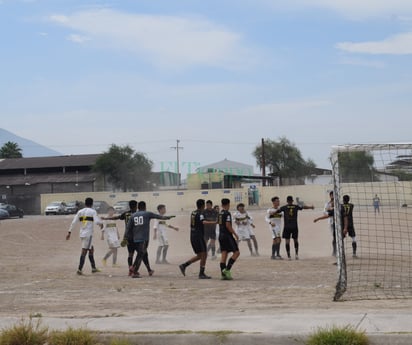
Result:
{"type": "Polygon", "coordinates": [[[78,275],[83,274],[83,266],[86,260],[86,254],[89,252],[89,261],[92,266],[92,273],[100,272],[98,268],[96,268],[96,263],[94,261],[94,247],[92,244],[93,240],[93,231],[94,225],[97,224],[100,226],[100,229],[103,228],[103,223],[100,220],[99,216],[95,209],[93,209],[93,199],[86,198],[85,207],[79,210],[73,218],[72,223],[70,224],[69,231],[66,235],[66,240],[70,240],[70,235],[74,226],[77,223],[80,223],[80,240],[82,242],[82,251],[80,254],[80,262],[79,268],[77,270],[78,275]]]}

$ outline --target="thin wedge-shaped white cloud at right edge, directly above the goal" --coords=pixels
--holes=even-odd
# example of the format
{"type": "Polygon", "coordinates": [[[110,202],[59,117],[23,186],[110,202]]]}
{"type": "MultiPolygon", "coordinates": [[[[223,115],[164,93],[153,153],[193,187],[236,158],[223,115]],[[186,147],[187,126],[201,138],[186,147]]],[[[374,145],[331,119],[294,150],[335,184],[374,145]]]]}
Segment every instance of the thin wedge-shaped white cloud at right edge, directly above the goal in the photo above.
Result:
{"type": "Polygon", "coordinates": [[[341,42],[336,45],[336,48],[350,53],[410,55],[412,54],[412,32],[394,35],[382,41],[341,42]]]}

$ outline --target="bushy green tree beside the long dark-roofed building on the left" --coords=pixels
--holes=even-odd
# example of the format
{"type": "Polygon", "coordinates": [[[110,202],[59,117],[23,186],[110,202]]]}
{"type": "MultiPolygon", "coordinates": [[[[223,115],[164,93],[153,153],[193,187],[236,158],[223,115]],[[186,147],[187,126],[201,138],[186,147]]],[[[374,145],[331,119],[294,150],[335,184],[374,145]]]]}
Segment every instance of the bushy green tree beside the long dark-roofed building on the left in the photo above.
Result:
{"type": "Polygon", "coordinates": [[[94,170],[115,188],[127,191],[147,190],[153,162],[130,146],[112,144],[97,160],[94,170]]]}

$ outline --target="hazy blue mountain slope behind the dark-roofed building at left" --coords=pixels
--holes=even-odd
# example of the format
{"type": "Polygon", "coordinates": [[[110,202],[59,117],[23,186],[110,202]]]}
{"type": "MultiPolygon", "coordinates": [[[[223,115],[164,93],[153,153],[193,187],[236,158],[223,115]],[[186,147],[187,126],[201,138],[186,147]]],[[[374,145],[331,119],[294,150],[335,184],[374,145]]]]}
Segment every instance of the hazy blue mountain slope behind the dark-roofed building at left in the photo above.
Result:
{"type": "Polygon", "coordinates": [[[3,128],[0,128],[0,147],[11,141],[19,145],[24,158],[27,157],[47,157],[47,156],[62,156],[62,153],[49,149],[46,146],[35,143],[32,140],[19,137],[3,128]]]}

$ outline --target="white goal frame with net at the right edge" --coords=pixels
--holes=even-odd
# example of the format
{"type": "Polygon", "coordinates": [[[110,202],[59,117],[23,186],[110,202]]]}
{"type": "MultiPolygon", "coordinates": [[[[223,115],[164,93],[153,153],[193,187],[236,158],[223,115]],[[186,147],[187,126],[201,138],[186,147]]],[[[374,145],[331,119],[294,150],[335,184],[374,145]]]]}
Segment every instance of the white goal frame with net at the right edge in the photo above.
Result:
{"type": "Polygon", "coordinates": [[[412,297],[412,144],[332,149],[338,282],[334,300],[412,297]],[[353,228],[350,206],[353,204],[353,228]],[[349,226],[343,235],[345,225],[349,226]]]}

